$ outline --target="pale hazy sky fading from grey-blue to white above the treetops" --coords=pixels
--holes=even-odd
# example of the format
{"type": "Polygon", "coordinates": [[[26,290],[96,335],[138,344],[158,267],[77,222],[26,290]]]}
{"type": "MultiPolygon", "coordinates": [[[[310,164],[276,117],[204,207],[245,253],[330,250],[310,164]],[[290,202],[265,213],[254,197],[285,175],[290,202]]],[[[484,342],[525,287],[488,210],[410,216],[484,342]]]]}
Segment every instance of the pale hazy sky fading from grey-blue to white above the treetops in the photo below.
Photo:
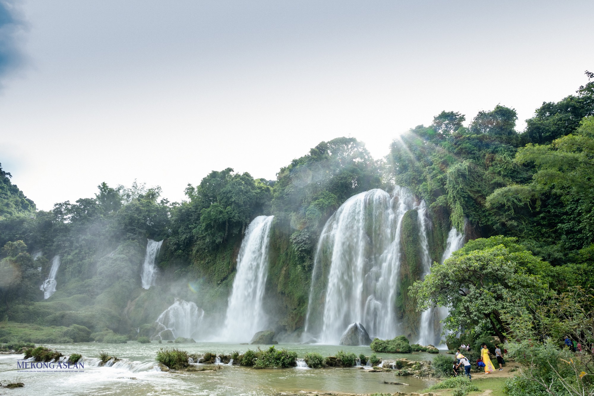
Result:
{"type": "Polygon", "coordinates": [[[1,4],[0,162],[39,209],[102,181],[180,200],[213,169],[273,179],[338,136],[380,158],[444,109],[501,103],[522,129],[594,70],[592,0],[1,4]]]}

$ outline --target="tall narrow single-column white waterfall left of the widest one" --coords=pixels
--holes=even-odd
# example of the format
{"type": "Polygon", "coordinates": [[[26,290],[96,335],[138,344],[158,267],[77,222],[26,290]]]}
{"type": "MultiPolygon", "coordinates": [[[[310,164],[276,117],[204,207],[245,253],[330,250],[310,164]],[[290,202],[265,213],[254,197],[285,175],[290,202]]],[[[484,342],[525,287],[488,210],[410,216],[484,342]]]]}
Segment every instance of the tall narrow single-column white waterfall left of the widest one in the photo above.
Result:
{"type": "Polygon", "coordinates": [[[258,216],[248,226],[237,257],[237,273],[229,296],[224,341],[250,340],[266,329],[262,308],[268,272],[268,241],[274,216],[258,216]]]}

